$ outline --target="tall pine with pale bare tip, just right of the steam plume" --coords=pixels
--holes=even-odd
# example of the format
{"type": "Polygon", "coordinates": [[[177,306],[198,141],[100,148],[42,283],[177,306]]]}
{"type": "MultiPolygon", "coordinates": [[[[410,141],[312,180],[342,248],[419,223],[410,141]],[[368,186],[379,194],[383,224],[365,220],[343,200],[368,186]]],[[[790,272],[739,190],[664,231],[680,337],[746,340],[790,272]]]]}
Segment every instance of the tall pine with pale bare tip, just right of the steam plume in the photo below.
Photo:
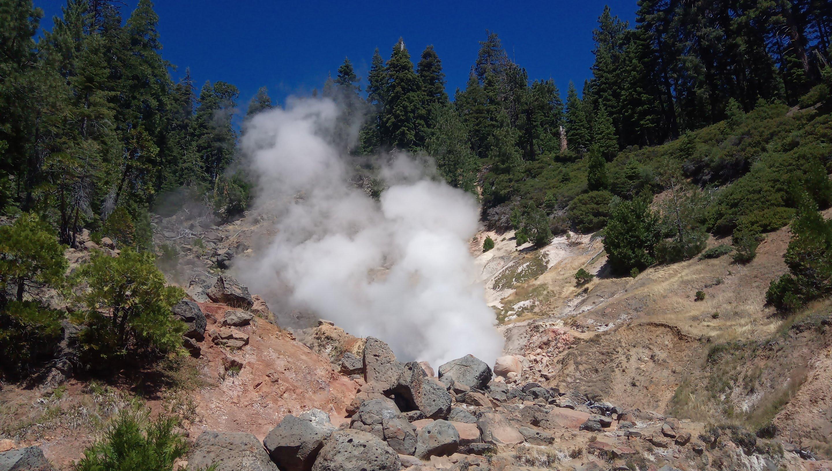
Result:
{"type": "Polygon", "coordinates": [[[392,149],[414,150],[424,128],[424,94],[404,40],[393,47],[387,62],[382,142],[392,149]]]}

